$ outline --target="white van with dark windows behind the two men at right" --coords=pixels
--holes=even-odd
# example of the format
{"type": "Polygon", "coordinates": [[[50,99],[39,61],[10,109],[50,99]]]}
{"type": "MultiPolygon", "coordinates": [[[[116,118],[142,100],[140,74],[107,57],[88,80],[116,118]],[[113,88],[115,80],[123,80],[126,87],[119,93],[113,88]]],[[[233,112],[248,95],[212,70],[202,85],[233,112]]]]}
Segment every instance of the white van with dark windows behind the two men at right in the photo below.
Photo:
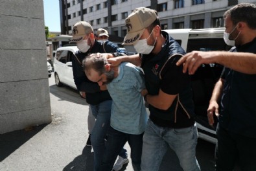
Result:
{"type": "MultiPolygon", "coordinates": [[[[204,29],[171,29],[165,30],[174,40],[180,43],[186,52],[191,51],[228,51],[231,47],[223,39],[225,28],[204,29]]],[[[223,66],[216,63],[201,65],[192,75],[192,93],[195,105],[198,137],[216,143],[216,124],[210,126],[207,119],[207,108],[216,81],[220,78],[223,66]]]]}

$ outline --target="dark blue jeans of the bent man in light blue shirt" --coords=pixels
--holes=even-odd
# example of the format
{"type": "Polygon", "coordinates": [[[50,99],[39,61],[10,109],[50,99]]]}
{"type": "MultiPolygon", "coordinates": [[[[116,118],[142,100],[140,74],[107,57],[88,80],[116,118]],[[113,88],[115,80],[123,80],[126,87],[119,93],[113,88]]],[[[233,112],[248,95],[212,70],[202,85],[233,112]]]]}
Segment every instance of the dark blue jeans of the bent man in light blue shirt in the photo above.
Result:
{"type": "Polygon", "coordinates": [[[132,166],[135,171],[141,170],[141,152],[143,145],[143,133],[132,135],[117,131],[110,127],[108,131],[108,141],[106,151],[103,156],[100,170],[111,171],[118,153],[122,150],[124,144],[128,141],[131,148],[132,166]]]}

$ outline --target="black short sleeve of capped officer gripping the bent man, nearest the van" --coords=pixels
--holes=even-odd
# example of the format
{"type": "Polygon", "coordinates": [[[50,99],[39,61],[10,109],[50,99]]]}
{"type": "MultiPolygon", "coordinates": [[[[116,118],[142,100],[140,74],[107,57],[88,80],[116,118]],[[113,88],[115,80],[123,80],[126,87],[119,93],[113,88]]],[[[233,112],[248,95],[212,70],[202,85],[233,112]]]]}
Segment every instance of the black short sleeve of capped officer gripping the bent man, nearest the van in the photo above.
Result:
{"type": "Polygon", "coordinates": [[[189,76],[188,73],[183,73],[182,71],[183,65],[176,65],[176,62],[180,58],[180,55],[169,58],[160,73],[160,89],[169,95],[177,95],[191,82],[191,76],[189,76]]]}

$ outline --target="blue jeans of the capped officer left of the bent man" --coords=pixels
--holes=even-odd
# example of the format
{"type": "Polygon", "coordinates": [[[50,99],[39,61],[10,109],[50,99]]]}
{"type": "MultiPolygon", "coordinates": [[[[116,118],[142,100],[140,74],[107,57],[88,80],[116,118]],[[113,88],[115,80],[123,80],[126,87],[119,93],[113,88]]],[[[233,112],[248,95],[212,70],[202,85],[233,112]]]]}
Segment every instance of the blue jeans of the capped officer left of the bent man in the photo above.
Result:
{"type": "MultiPolygon", "coordinates": [[[[91,132],[91,145],[94,151],[94,170],[99,170],[102,156],[106,149],[105,138],[110,128],[110,115],[112,100],[106,100],[97,105],[90,105],[93,116],[96,118],[93,131],[91,132]]],[[[127,153],[124,148],[120,151],[119,155],[127,158],[127,153]]]]}

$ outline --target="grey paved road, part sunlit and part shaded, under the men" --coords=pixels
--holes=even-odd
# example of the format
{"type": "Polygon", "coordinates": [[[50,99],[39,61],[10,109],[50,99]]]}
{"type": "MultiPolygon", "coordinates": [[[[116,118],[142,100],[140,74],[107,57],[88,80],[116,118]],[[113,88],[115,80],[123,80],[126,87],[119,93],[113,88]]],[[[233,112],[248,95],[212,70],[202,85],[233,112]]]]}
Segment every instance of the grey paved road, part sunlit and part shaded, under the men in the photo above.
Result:
{"type": "MultiPolygon", "coordinates": [[[[93,152],[85,147],[88,105],[78,93],[67,87],[56,87],[49,78],[52,123],[32,130],[0,135],[0,170],[5,171],[92,171],[93,152]]],[[[130,148],[125,148],[130,154],[130,148]]],[[[214,170],[215,145],[198,140],[196,157],[202,170],[214,170]]],[[[161,171],[180,171],[171,150],[165,155],[161,171]]],[[[132,165],[122,170],[132,171],[132,165]]]]}

